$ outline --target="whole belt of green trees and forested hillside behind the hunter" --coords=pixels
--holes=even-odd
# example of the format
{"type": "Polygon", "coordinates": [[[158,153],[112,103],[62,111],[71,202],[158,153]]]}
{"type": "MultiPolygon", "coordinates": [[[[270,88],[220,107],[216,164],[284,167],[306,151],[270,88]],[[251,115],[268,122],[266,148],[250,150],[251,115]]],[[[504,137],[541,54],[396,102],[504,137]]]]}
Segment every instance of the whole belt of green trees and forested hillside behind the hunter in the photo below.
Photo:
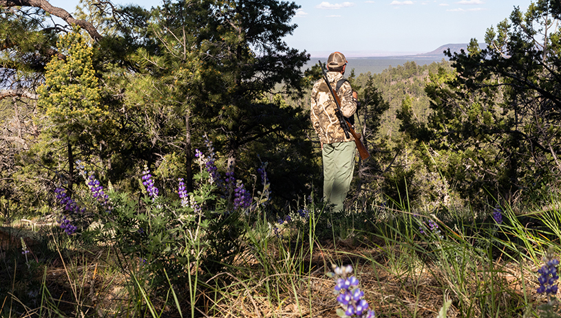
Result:
{"type": "MultiPolygon", "coordinates": [[[[489,29],[487,48],[474,39],[468,52],[449,53],[451,62],[347,74],[361,100],[357,129],[372,153],[357,161],[349,205],[407,200],[445,212],[558,188],[559,52],[551,24],[558,10],[548,3],[515,10],[510,22],[489,29]]],[[[50,34],[41,46],[13,36],[1,51],[3,82],[16,92],[13,103],[2,100],[3,113],[14,115],[3,126],[19,125],[5,130],[2,144],[5,205],[44,211],[59,182],[78,190],[75,159],[131,193],[140,191],[133,180],[145,164],[162,192],[173,193],[180,177],[194,191],[204,133],[215,142],[218,169],[249,188],[268,163],[271,218],[320,193],[319,144],[307,111],[319,68],[302,72],[306,52],[282,41],[295,29],[297,8],[269,0],[164,1],[153,10],[84,1],[79,16],[101,32],[96,41],[78,28],[40,32],[41,10],[4,12],[5,28],[50,34]],[[34,115],[24,125],[27,112],[34,115]]]]}

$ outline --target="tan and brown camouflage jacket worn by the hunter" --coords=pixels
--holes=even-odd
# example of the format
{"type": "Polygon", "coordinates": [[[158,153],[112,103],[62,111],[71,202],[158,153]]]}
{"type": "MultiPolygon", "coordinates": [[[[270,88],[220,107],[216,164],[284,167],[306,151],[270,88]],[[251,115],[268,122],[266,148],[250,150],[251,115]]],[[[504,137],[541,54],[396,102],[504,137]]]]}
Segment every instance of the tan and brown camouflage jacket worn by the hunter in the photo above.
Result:
{"type": "MultiPolygon", "coordinates": [[[[328,72],[327,78],[333,91],[335,91],[337,81],[343,78],[343,75],[337,72],[328,72]]],[[[337,95],[339,95],[339,99],[341,100],[341,112],[343,116],[352,116],[354,111],[357,111],[357,102],[352,100],[352,88],[349,82],[345,81],[341,85],[339,91],[337,91],[337,95]]],[[[337,109],[337,104],[335,104],[335,100],[327,87],[326,80],[321,78],[321,80],[318,80],[314,84],[310,111],[310,118],[315,132],[319,136],[319,141],[323,144],[354,141],[352,135],[349,135],[349,138],[345,137],[345,132],[343,128],[341,128],[341,125],[339,125],[337,115],[335,115],[335,109],[337,109]]]]}

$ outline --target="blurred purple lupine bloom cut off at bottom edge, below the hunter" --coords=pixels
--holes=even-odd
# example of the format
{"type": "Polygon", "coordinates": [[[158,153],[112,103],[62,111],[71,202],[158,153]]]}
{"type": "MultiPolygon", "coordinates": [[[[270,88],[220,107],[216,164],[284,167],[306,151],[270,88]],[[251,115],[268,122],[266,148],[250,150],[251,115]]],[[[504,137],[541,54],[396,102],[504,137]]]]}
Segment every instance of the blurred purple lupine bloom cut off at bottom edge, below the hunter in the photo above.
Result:
{"type": "Polygon", "coordinates": [[[352,266],[337,267],[333,265],[335,273],[335,294],[337,302],[345,310],[348,317],[374,318],[374,310],[368,309],[368,302],[364,299],[364,292],[358,287],[359,280],[357,277],[350,276],[352,266]]]}

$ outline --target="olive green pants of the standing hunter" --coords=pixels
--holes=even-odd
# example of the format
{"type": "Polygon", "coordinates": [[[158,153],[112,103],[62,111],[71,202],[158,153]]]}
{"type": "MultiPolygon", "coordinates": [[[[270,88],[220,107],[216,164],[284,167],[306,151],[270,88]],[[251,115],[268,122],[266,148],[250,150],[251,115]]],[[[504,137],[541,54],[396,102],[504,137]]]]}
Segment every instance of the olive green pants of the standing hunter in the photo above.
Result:
{"type": "Polygon", "coordinates": [[[333,212],[343,209],[354,170],[354,141],[324,144],[324,200],[334,205],[333,212]]]}

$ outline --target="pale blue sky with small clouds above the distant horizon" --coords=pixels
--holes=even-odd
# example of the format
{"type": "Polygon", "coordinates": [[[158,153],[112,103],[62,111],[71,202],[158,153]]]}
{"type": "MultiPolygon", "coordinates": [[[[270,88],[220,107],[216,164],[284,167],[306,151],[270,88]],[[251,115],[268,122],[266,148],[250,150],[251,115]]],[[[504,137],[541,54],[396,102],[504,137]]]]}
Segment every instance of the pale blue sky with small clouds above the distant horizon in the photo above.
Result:
{"type": "MultiPolygon", "coordinates": [[[[441,45],[482,43],[489,27],[507,19],[515,6],[525,12],[531,0],[293,0],[301,6],[284,40],[311,56],[343,52],[346,57],[399,56],[431,52],[441,45]]],[[[144,8],[156,0],[112,0],[144,8]]],[[[78,0],[50,0],[74,12],[78,0]]]]}

